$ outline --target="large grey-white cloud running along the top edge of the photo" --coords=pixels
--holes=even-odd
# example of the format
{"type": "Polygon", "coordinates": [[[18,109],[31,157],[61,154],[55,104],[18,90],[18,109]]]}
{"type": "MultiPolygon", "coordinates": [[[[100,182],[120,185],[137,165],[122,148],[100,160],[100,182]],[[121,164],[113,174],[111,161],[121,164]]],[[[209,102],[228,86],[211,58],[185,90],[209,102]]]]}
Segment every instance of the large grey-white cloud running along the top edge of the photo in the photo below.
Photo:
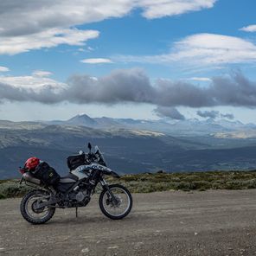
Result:
{"type": "Polygon", "coordinates": [[[68,28],[78,24],[122,17],[143,9],[146,18],[174,16],[212,8],[216,0],[45,0],[0,2],[0,33],[28,35],[42,29],[68,28]],[[17,22],[18,21],[18,22],[17,22]]]}

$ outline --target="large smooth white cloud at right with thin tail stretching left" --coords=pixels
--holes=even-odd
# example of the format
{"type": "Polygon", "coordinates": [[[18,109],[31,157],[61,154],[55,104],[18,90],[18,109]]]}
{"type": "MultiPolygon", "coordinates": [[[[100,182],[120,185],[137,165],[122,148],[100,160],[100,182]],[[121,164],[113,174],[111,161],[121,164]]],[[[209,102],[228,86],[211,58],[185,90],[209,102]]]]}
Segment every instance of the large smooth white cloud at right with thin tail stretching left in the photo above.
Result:
{"type": "Polygon", "coordinates": [[[114,61],[181,63],[182,66],[214,67],[256,62],[256,45],[245,39],[215,34],[196,34],[176,42],[170,53],[148,56],[115,56],[114,61]]]}

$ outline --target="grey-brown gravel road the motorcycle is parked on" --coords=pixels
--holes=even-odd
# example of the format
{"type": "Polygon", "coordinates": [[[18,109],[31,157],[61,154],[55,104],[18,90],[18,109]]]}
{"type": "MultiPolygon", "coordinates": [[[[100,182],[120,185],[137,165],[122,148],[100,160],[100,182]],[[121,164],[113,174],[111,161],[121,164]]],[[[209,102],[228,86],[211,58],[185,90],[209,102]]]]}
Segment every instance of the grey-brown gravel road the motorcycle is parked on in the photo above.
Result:
{"type": "Polygon", "coordinates": [[[122,221],[86,208],[58,209],[30,225],[20,199],[0,201],[0,255],[256,255],[256,190],[135,194],[122,221]]]}

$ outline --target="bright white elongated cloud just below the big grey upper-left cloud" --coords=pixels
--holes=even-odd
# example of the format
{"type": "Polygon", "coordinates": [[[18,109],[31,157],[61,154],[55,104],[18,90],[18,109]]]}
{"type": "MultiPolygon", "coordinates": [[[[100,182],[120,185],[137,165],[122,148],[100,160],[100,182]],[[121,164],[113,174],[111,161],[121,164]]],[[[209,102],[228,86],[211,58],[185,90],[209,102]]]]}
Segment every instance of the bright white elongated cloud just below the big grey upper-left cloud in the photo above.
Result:
{"type": "Polygon", "coordinates": [[[61,44],[82,46],[87,40],[98,36],[99,31],[80,29],[48,29],[31,35],[0,36],[0,54],[19,54],[61,44]]]}

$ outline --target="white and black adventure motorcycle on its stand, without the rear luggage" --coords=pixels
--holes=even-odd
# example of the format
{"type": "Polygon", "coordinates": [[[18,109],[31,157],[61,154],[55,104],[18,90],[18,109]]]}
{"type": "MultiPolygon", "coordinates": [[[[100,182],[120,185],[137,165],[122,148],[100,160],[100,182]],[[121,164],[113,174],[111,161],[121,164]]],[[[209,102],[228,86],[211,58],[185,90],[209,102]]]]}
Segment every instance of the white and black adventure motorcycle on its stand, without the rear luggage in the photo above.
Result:
{"type": "MultiPolygon", "coordinates": [[[[106,166],[105,158],[98,146],[89,153],[80,150],[79,155],[67,157],[69,174],[59,178],[58,182],[49,184],[29,170],[20,169],[22,182],[35,189],[24,195],[21,202],[21,214],[32,224],[42,224],[49,221],[55,208],[86,207],[98,184],[102,191],[99,195],[99,208],[103,214],[112,220],[123,219],[131,212],[132,197],[128,189],[120,184],[108,185],[105,176],[119,178],[118,174],[106,166]]],[[[51,176],[51,175],[50,175],[51,176]]]]}

